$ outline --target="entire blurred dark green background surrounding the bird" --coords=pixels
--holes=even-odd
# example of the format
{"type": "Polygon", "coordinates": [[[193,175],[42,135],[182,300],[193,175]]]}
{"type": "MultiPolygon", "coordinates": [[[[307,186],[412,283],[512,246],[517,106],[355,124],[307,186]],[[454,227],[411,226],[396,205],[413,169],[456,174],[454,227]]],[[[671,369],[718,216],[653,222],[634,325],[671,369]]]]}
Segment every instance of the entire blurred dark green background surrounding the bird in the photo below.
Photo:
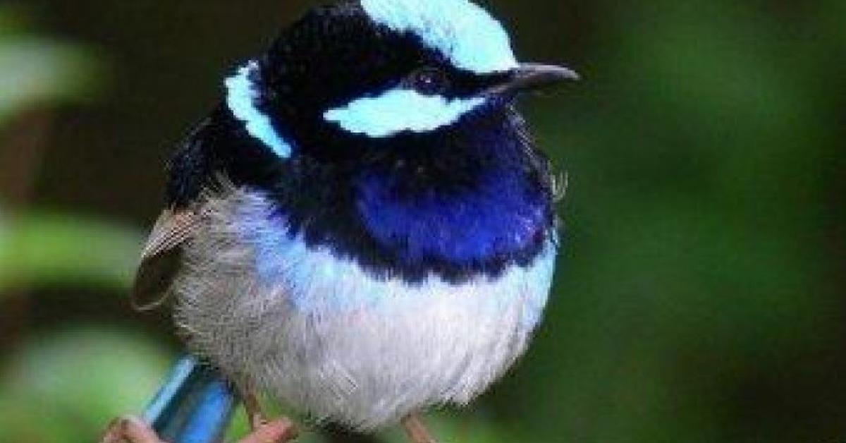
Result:
{"type": "MultiPolygon", "coordinates": [[[[442,439],[846,437],[846,3],[489,6],[585,80],[524,107],[569,173],[547,321],[442,439]]],[[[307,7],[0,4],[0,440],[91,441],[152,395],[179,344],[125,294],[168,152],[307,7]]]]}

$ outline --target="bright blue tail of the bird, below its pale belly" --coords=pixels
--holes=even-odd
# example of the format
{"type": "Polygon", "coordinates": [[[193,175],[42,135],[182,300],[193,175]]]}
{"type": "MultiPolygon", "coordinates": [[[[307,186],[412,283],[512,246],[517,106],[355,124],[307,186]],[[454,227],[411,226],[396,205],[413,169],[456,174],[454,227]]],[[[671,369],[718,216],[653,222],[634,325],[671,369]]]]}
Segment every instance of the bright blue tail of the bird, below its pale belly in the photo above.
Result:
{"type": "Polygon", "coordinates": [[[162,440],[213,443],[222,440],[238,397],[213,368],[183,357],[173,368],[144,419],[162,440]]]}

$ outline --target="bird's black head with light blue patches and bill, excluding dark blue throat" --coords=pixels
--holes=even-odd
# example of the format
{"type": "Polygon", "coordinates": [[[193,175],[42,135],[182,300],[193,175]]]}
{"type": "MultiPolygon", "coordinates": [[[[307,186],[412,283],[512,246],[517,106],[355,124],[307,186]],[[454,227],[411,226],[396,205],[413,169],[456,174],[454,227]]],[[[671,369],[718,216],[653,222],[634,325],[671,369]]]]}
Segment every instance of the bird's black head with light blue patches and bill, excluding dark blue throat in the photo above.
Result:
{"type": "Polygon", "coordinates": [[[490,140],[483,128],[519,91],[575,78],[519,64],[503,26],[467,0],[360,0],[312,10],[226,86],[233,116],[278,157],[351,166],[490,140]]]}

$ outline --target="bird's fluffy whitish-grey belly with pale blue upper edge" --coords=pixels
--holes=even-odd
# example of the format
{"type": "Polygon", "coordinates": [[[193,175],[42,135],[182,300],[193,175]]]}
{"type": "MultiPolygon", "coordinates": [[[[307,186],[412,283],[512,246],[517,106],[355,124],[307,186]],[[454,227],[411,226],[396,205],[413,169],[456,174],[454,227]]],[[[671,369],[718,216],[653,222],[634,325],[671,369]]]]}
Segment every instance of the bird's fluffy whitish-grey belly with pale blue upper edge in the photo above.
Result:
{"type": "Polygon", "coordinates": [[[547,301],[552,241],[495,280],[412,286],[288,238],[259,197],[210,208],[174,285],[179,326],[233,380],[317,419],[373,429],[472,400],[525,351],[547,301]]]}

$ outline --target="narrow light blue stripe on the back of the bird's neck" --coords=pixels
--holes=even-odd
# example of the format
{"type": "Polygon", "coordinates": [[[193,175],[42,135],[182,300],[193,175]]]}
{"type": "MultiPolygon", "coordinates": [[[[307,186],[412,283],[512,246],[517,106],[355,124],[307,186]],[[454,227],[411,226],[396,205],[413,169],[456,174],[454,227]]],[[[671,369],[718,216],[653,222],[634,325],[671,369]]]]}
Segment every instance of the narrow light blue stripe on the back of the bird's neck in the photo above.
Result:
{"type": "Polygon", "coordinates": [[[250,63],[241,67],[237,74],[226,79],[227,106],[236,119],[244,122],[250,136],[270,147],[280,158],[289,158],[291,157],[291,145],[273,129],[270,118],[261,110],[255,108],[255,101],[259,98],[259,93],[255,91],[255,86],[250,77],[256,69],[258,69],[258,64],[255,61],[250,61],[250,63]]]}

